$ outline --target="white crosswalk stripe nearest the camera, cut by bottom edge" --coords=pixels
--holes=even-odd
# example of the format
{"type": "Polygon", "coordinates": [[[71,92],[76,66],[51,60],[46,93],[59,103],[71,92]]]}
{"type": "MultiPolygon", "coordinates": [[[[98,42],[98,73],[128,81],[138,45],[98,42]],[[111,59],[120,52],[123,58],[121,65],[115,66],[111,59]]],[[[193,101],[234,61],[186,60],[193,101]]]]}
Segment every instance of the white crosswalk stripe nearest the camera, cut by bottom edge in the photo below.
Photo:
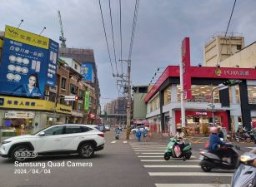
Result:
{"type": "Polygon", "coordinates": [[[154,184],[156,187],[230,187],[231,185],[220,184],[154,184]]]}

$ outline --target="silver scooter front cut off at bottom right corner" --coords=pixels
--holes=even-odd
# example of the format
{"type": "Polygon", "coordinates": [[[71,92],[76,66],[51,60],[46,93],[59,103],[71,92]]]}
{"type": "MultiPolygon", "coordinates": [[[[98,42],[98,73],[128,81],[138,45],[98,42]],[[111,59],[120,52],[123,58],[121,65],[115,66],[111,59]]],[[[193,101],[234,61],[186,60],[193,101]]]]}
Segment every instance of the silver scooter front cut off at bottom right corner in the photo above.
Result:
{"type": "Polygon", "coordinates": [[[244,153],[241,155],[241,165],[233,175],[231,181],[232,187],[256,187],[256,165],[253,165],[254,160],[256,160],[256,154],[244,153]]]}

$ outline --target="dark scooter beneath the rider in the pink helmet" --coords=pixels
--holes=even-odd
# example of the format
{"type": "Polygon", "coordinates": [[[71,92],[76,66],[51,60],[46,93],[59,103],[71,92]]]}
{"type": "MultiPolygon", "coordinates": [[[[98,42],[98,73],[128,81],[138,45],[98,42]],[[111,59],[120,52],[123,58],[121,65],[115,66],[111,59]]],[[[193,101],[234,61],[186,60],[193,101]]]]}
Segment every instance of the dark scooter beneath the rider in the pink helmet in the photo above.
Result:
{"type": "Polygon", "coordinates": [[[238,168],[238,150],[240,150],[240,147],[237,145],[233,145],[232,147],[223,146],[221,149],[230,149],[232,153],[230,155],[233,157],[232,160],[231,158],[223,160],[208,150],[200,151],[199,160],[201,162],[199,165],[204,172],[209,172],[213,169],[234,170],[238,168]],[[228,159],[230,160],[229,162],[228,159]]]}

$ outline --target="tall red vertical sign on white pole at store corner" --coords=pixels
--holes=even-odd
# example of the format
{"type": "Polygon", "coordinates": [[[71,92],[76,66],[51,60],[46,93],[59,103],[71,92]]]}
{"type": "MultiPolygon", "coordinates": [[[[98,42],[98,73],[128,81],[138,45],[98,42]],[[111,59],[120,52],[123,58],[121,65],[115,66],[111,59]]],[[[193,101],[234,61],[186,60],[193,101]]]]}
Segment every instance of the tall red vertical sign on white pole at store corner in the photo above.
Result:
{"type": "Polygon", "coordinates": [[[182,42],[182,63],[183,63],[183,98],[190,100],[191,93],[191,76],[190,76],[190,47],[189,37],[185,37],[182,42]]]}

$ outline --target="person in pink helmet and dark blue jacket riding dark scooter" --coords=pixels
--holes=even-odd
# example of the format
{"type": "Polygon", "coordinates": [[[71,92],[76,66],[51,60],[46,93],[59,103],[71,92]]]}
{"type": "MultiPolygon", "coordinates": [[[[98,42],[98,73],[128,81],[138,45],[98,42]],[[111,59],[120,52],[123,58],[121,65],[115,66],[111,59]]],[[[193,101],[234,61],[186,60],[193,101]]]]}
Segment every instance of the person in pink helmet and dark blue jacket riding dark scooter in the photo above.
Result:
{"type": "MultiPolygon", "coordinates": [[[[210,132],[211,132],[211,135],[210,135],[208,150],[218,155],[220,159],[223,159],[223,157],[231,157],[232,154],[229,151],[229,149],[223,149],[222,146],[232,147],[233,145],[227,144],[224,141],[220,140],[220,138],[217,135],[218,127],[216,126],[210,127],[210,132]],[[218,145],[220,145],[221,147],[219,148],[218,145]]],[[[232,161],[233,161],[233,158],[231,158],[231,162],[232,161]]]]}

